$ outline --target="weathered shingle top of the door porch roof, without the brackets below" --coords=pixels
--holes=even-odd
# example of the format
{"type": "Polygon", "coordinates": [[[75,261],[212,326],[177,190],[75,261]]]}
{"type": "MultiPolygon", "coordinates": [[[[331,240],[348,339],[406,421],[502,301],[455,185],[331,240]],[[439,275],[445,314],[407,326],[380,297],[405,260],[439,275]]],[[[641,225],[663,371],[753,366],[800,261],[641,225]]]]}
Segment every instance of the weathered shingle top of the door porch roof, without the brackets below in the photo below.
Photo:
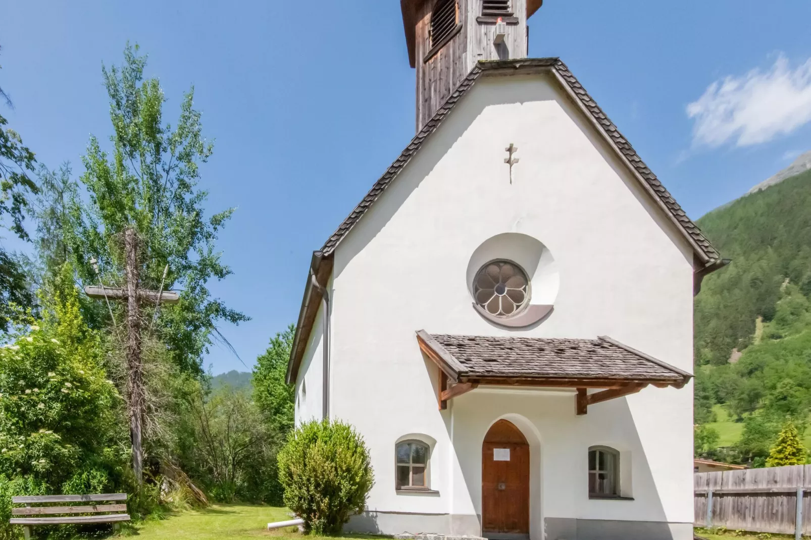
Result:
{"type": "Polygon", "coordinates": [[[417,332],[457,380],[623,379],[681,385],[692,377],[610,337],[569,339],[512,336],[451,336],[417,332]]]}

